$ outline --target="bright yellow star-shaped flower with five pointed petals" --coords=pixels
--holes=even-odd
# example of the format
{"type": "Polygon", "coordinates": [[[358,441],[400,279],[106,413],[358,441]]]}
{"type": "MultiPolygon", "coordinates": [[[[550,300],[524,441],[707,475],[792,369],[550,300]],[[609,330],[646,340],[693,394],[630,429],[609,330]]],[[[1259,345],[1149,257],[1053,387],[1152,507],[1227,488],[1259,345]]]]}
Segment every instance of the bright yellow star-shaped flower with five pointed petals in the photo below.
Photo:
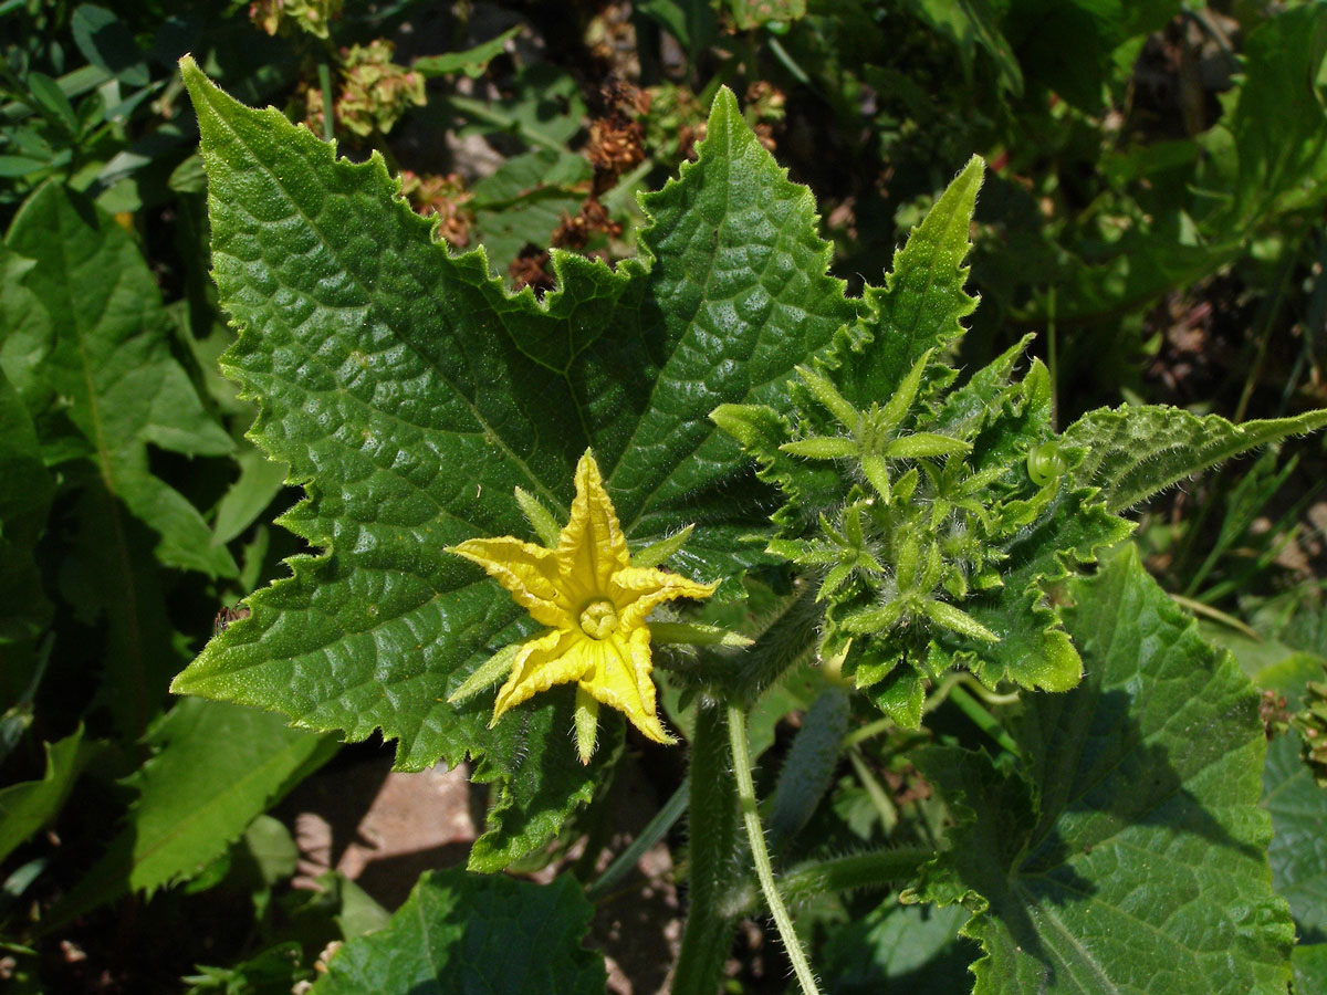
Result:
{"type": "Polygon", "coordinates": [[[645,618],[665,601],[709,597],[717,585],[632,566],[613,501],[588,451],[576,466],[572,516],[556,549],[500,536],[470,539],[450,552],[483,566],[531,618],[548,626],[516,647],[494,723],[532,695],[576,682],[581,763],[589,763],[594,750],[600,703],[621,711],[656,743],[677,742],[654,710],[645,618]]]}

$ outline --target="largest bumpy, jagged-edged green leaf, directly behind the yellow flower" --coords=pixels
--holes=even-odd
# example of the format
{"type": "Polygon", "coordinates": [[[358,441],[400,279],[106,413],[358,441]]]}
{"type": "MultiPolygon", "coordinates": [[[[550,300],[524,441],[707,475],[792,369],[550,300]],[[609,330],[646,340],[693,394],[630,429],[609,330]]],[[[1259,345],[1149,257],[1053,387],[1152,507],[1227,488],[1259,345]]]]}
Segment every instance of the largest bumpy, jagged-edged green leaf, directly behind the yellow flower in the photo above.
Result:
{"type": "Polygon", "coordinates": [[[726,401],[786,403],[794,365],[855,316],[825,276],[811,195],[723,92],[699,162],[646,198],[646,259],[614,272],[555,253],[560,289],[511,296],[482,253],[431,240],[380,159],[337,161],[277,111],[243,107],[190,61],[183,72],[215,277],[239,330],[223,362],[259,401],[253,438],[309,494],[283,523],[317,552],[251,597],[252,616],[175,690],[350,739],[382,728],[405,769],[482,758],[475,776],[532,792],[506,804],[547,834],[557,819],[531,807],[565,811],[597,771],[548,759],[572,748],[559,691],[492,730],[487,695],[446,700],[531,631],[446,547],[528,535],[518,486],[565,516],[572,467],[593,446],[633,543],[699,523],[674,564],[735,577],[752,559],[736,536],[758,521],[759,492],[706,415],[726,401]],[[520,775],[532,764],[545,773],[520,775]]]}

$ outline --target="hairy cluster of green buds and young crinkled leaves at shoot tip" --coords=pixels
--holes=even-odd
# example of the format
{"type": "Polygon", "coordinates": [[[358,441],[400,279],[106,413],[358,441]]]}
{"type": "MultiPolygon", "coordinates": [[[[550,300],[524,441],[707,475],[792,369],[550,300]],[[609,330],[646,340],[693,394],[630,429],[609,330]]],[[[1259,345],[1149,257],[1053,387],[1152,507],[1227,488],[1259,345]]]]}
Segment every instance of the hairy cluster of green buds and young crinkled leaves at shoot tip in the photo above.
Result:
{"type": "Polygon", "coordinates": [[[916,726],[925,682],[953,665],[990,685],[1063,691],[1082,662],[1048,608],[1067,566],[1128,527],[1096,488],[1063,476],[1046,367],[1013,369],[1026,341],[954,389],[982,165],[954,180],[894,259],[884,288],[815,369],[792,417],[729,405],[714,421],[784,495],[770,552],[819,569],[821,655],[847,653],[859,687],[916,726]]]}

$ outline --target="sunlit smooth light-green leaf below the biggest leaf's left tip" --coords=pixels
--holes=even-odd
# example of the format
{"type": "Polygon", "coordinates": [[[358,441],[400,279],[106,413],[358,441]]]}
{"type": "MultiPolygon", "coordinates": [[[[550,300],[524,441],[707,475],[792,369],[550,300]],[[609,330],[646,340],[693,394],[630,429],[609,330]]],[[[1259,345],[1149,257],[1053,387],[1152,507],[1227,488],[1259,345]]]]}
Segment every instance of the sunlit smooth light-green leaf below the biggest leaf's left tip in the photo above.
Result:
{"type": "Polygon", "coordinates": [[[147,744],[157,754],[129,779],[138,797],[56,919],[192,877],[337,750],[277,715],[196,698],[161,719],[147,744]]]}

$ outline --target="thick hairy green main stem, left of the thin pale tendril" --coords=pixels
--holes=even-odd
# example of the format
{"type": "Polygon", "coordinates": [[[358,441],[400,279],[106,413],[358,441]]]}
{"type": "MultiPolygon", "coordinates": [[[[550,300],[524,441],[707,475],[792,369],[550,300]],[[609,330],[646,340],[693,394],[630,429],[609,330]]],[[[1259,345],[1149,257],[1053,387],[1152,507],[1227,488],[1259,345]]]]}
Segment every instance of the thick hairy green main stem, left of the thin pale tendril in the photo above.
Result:
{"type": "Polygon", "coordinates": [[[736,929],[736,921],[721,911],[723,893],[734,884],[730,877],[738,830],[723,732],[723,708],[702,698],[691,736],[687,911],[673,995],[714,995],[719,990],[736,929]]]}

